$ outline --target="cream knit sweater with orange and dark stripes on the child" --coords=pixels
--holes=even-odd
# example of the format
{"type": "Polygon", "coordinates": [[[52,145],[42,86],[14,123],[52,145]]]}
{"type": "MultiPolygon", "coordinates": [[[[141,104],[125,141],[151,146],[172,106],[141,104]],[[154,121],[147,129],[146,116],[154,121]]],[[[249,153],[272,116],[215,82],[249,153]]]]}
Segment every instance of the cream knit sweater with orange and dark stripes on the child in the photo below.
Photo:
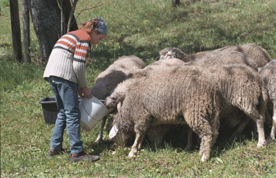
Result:
{"type": "Polygon", "coordinates": [[[79,87],[87,86],[85,64],[91,44],[91,37],[84,30],[64,34],[52,49],[43,79],[56,76],[75,82],[79,87]]]}

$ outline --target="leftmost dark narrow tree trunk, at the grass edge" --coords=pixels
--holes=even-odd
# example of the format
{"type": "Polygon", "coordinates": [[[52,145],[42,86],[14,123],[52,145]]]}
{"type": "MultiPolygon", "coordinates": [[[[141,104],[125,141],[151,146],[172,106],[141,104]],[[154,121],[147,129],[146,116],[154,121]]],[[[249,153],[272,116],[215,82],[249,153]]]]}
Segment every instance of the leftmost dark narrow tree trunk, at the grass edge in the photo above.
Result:
{"type": "Polygon", "coordinates": [[[12,27],[12,46],[14,62],[22,61],[22,44],[18,0],[10,0],[10,22],[12,27]]]}

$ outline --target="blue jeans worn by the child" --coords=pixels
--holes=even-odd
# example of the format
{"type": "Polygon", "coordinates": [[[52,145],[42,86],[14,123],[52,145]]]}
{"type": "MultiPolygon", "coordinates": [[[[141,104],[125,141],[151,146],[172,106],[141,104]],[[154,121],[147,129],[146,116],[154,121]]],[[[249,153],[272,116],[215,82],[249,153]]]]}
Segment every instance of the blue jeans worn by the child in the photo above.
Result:
{"type": "Polygon", "coordinates": [[[50,148],[52,150],[62,148],[63,133],[67,126],[71,153],[79,153],[83,151],[83,146],[79,121],[81,113],[79,111],[77,83],[55,76],[49,77],[48,81],[52,92],[54,92],[57,108],[59,109],[55,128],[52,132],[50,148]]]}

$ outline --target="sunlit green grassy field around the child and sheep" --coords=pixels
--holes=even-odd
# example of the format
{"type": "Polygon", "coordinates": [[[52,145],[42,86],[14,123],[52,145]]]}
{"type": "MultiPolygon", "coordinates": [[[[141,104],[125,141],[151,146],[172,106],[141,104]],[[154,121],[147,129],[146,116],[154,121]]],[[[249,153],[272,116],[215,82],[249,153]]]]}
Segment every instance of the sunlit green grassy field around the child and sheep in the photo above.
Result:
{"type": "MultiPolygon", "coordinates": [[[[75,15],[96,3],[79,0],[75,15]]],[[[90,87],[118,57],[137,55],[151,63],[166,47],[190,55],[256,43],[276,59],[274,0],[181,0],[177,8],[170,7],[170,0],[103,0],[101,4],[81,12],[77,19],[80,24],[100,16],[109,28],[108,38],[92,48],[86,65],[90,87]]],[[[39,46],[33,30],[33,63],[13,63],[8,1],[1,1],[0,8],[0,53],[9,54],[0,55],[1,177],[276,177],[275,142],[257,149],[250,128],[235,141],[220,135],[210,160],[204,163],[199,148],[185,151],[186,139],[179,137],[166,139],[159,147],[145,141],[141,152],[128,159],[132,141],[126,148],[114,149],[104,132],[103,143],[97,147],[99,125],[90,132],[81,131],[86,150],[101,156],[96,163],[70,164],[67,154],[47,158],[53,125],[44,122],[39,104],[43,97],[52,96],[42,79],[46,64],[35,65],[39,46]]],[[[69,148],[68,136],[64,137],[63,145],[69,148]]]]}

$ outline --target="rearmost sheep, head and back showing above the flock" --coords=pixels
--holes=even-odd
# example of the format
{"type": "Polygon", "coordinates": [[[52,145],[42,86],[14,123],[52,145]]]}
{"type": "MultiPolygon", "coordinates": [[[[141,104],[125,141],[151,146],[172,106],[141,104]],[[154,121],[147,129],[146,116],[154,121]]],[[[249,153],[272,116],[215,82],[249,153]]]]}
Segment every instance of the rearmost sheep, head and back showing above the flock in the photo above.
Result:
{"type": "MultiPolygon", "coordinates": [[[[257,63],[258,68],[265,66],[266,63],[271,61],[270,56],[268,55],[268,52],[266,52],[264,48],[252,43],[246,43],[246,44],[241,44],[237,46],[226,46],[224,48],[219,48],[217,50],[197,52],[194,55],[186,55],[178,48],[164,48],[159,52],[159,55],[165,56],[165,57],[173,56],[177,59],[181,59],[182,61],[188,62],[188,61],[197,59],[199,57],[203,57],[204,55],[207,55],[209,52],[219,52],[219,51],[242,52],[248,55],[248,57],[250,57],[251,59],[253,59],[257,63]]],[[[159,57],[157,57],[156,60],[159,60],[159,57]]]]}

